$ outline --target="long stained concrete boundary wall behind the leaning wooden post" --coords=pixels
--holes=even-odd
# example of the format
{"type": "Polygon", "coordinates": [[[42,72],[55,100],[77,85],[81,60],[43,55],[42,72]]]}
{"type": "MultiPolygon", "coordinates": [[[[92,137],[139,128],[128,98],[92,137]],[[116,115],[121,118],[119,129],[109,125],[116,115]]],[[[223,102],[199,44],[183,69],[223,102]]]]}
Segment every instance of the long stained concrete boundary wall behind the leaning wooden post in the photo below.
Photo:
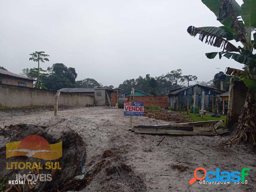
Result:
{"type": "MultiPolygon", "coordinates": [[[[47,91],[0,84],[0,106],[1,107],[27,107],[27,106],[53,106],[56,91],[47,91]]],[[[60,106],[93,105],[94,97],[85,94],[60,93],[60,106]]]]}

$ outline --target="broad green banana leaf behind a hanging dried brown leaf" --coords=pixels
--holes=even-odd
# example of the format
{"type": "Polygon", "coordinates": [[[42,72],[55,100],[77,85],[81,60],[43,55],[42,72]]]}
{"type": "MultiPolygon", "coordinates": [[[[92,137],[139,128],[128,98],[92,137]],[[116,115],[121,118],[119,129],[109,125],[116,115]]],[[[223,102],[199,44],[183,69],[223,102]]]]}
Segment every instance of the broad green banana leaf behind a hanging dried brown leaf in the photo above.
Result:
{"type": "MultiPolygon", "coordinates": [[[[219,14],[219,7],[222,4],[222,0],[202,0],[203,4],[205,4],[217,17],[219,14]]],[[[240,16],[242,15],[242,10],[240,5],[235,1],[232,0],[233,3],[233,7],[236,13],[236,16],[240,16]]],[[[220,21],[223,25],[225,25],[226,27],[230,28],[232,22],[233,22],[233,18],[232,17],[228,17],[223,19],[222,21],[220,21]]]]}

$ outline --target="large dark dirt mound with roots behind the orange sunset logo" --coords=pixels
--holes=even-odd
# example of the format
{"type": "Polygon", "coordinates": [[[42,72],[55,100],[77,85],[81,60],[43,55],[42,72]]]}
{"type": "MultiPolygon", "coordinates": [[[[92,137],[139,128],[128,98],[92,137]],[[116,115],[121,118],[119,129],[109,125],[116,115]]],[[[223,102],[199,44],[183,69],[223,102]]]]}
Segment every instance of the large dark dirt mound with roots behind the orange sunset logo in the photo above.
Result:
{"type": "MultiPolygon", "coordinates": [[[[34,144],[42,142],[40,140],[34,144]]],[[[30,145],[33,144],[30,143],[30,145]]],[[[0,175],[7,177],[5,189],[11,188],[10,191],[19,191],[19,189],[28,191],[29,188],[30,191],[65,191],[67,183],[79,174],[81,165],[84,163],[85,142],[78,133],[70,128],[59,131],[52,127],[48,131],[46,127],[38,127],[31,124],[11,125],[9,127],[5,126],[0,130],[0,156],[3,157],[0,159],[0,175]],[[21,141],[29,135],[40,135],[48,142],[48,145],[62,142],[62,157],[56,160],[44,160],[32,157],[35,155],[27,157],[29,155],[25,153],[24,155],[27,156],[4,158],[6,155],[6,143],[21,141]],[[8,162],[9,167],[11,167],[11,162],[31,162],[32,164],[36,162],[37,165],[40,162],[42,169],[6,169],[6,162],[8,162]],[[53,162],[55,166],[52,169],[46,169],[46,162],[53,162]],[[57,167],[58,162],[61,170],[54,169],[57,167]],[[38,174],[51,174],[52,181],[37,181],[35,185],[28,185],[27,182],[25,182],[25,185],[9,185],[9,180],[16,180],[16,174],[35,174],[35,176],[38,174]]]]}

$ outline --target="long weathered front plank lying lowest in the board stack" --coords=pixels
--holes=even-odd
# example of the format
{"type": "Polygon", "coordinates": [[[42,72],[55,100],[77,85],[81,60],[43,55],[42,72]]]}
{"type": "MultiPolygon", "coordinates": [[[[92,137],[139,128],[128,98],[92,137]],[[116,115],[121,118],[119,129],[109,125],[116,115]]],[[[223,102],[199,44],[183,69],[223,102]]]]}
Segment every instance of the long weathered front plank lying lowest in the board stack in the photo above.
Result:
{"type": "MultiPolygon", "coordinates": [[[[217,135],[216,132],[206,131],[181,131],[181,130],[162,130],[162,129],[136,129],[135,133],[146,133],[146,134],[167,134],[167,135],[217,135]]],[[[228,129],[219,130],[219,134],[229,132],[228,129]]]]}

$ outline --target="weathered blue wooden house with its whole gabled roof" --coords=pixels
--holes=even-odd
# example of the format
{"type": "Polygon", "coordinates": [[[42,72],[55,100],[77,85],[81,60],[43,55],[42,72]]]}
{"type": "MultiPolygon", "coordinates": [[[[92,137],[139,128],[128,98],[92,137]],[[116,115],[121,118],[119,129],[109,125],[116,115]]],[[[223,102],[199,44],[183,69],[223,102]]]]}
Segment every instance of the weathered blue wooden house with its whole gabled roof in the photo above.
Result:
{"type": "Polygon", "coordinates": [[[203,85],[190,85],[179,89],[171,90],[168,94],[168,106],[174,107],[177,102],[187,103],[187,95],[189,95],[189,106],[194,103],[194,92],[196,92],[196,106],[201,107],[202,92],[204,91],[204,108],[212,108],[212,97],[225,93],[226,91],[215,89],[214,87],[208,87],[203,85]]]}

